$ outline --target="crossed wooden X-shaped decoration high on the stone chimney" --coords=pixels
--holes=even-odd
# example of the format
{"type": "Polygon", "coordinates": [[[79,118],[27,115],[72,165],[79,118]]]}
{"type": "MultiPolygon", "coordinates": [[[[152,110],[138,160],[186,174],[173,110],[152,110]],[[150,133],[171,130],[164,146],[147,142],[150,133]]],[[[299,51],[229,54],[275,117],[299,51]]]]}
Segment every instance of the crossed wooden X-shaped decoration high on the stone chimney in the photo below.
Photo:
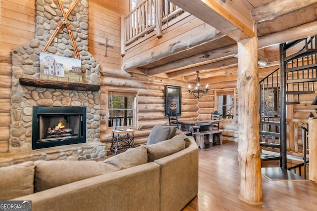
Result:
{"type": "Polygon", "coordinates": [[[76,3],[78,2],[78,0],[75,0],[73,2],[73,4],[70,6],[70,8],[68,9],[67,13],[65,14],[65,11],[64,11],[64,6],[63,4],[61,3],[61,0],[58,0],[58,4],[60,6],[60,9],[61,9],[61,12],[63,13],[63,18],[61,19],[61,21],[59,22],[58,26],[56,27],[52,37],[50,38],[50,40],[46,43],[44,49],[43,49],[43,52],[45,52],[48,47],[50,46],[51,42],[53,41],[54,37],[56,36],[57,32],[59,31],[61,25],[66,25],[67,27],[67,30],[68,30],[68,34],[69,34],[69,37],[70,37],[70,40],[71,40],[71,43],[73,44],[73,47],[74,47],[74,51],[75,51],[75,54],[77,56],[77,58],[79,59],[79,55],[78,55],[78,51],[77,51],[77,48],[76,48],[76,43],[74,41],[74,37],[71,33],[71,30],[70,30],[70,26],[69,26],[69,22],[67,20],[67,17],[68,15],[70,14],[70,12],[73,10],[73,8],[75,7],[76,3]]]}

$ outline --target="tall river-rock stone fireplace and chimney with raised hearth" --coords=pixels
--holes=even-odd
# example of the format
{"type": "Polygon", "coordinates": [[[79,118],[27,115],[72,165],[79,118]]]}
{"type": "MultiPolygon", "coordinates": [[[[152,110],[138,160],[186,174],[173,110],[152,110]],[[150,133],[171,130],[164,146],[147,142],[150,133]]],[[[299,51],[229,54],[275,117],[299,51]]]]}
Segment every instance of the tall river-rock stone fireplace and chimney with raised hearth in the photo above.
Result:
{"type": "MultiPolygon", "coordinates": [[[[70,4],[69,1],[62,2],[67,10],[70,4]]],[[[106,146],[100,142],[100,91],[37,87],[19,83],[21,78],[24,80],[40,79],[39,54],[52,37],[58,22],[62,19],[57,0],[38,0],[36,3],[35,38],[12,50],[9,154],[13,155],[13,157],[14,155],[19,157],[18,154],[21,153],[31,156],[29,156],[29,159],[25,158],[28,156],[24,156],[24,160],[67,160],[68,157],[71,157],[71,160],[84,160],[104,157],[106,155],[106,146]],[[33,146],[34,141],[32,141],[35,131],[33,127],[34,107],[85,108],[86,122],[82,132],[86,135],[84,140],[86,143],[82,143],[81,140],[80,143],[69,145],[69,150],[67,146],[57,147],[55,144],[45,146],[44,149],[40,149],[40,152],[34,150],[38,148],[33,146]],[[55,148],[46,148],[52,146],[55,148]],[[46,152],[49,151],[52,154],[52,150],[56,155],[47,159],[46,152]],[[32,154],[39,156],[32,158],[32,154]],[[42,158],[40,158],[41,156],[42,158]]],[[[83,84],[100,85],[100,65],[88,51],[88,0],[78,1],[67,20],[69,21],[81,60],[83,84]]],[[[62,25],[55,38],[57,38],[56,42],[52,42],[47,49],[47,53],[70,58],[76,57],[66,26],[62,25]]],[[[50,140],[43,142],[47,141],[50,140]]]]}

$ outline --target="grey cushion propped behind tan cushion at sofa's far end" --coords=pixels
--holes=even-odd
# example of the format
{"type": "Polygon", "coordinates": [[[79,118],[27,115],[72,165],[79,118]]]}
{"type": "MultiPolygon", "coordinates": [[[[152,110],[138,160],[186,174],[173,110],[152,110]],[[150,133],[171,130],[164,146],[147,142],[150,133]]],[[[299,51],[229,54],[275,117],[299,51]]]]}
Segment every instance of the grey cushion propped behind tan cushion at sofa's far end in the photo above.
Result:
{"type": "Polygon", "coordinates": [[[150,132],[147,145],[170,139],[176,132],[175,126],[154,126],[150,132]]]}

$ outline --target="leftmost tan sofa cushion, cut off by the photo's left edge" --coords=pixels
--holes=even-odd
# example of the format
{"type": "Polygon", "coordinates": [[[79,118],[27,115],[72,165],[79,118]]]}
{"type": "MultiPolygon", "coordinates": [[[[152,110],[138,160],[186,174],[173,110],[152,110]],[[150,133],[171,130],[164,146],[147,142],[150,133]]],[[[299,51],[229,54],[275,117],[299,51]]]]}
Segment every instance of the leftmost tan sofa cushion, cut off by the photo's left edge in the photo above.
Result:
{"type": "Polygon", "coordinates": [[[24,162],[0,168],[0,200],[32,194],[34,191],[33,162],[24,162]]]}

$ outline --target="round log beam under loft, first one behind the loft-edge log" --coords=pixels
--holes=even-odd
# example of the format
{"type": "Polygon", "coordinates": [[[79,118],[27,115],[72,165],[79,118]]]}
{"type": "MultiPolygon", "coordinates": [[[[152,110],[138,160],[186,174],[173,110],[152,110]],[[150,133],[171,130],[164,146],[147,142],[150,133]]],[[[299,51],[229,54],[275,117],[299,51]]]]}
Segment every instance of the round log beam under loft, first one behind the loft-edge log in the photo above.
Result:
{"type": "Polygon", "coordinates": [[[206,51],[204,53],[196,54],[194,56],[189,56],[189,57],[179,59],[177,61],[173,61],[173,62],[164,64],[155,68],[148,69],[147,74],[149,76],[154,76],[159,73],[163,73],[170,70],[177,70],[179,68],[184,69],[194,64],[195,65],[204,64],[208,61],[229,57],[236,53],[238,53],[238,48],[236,44],[233,44],[227,47],[222,47],[215,50],[206,51]]]}

